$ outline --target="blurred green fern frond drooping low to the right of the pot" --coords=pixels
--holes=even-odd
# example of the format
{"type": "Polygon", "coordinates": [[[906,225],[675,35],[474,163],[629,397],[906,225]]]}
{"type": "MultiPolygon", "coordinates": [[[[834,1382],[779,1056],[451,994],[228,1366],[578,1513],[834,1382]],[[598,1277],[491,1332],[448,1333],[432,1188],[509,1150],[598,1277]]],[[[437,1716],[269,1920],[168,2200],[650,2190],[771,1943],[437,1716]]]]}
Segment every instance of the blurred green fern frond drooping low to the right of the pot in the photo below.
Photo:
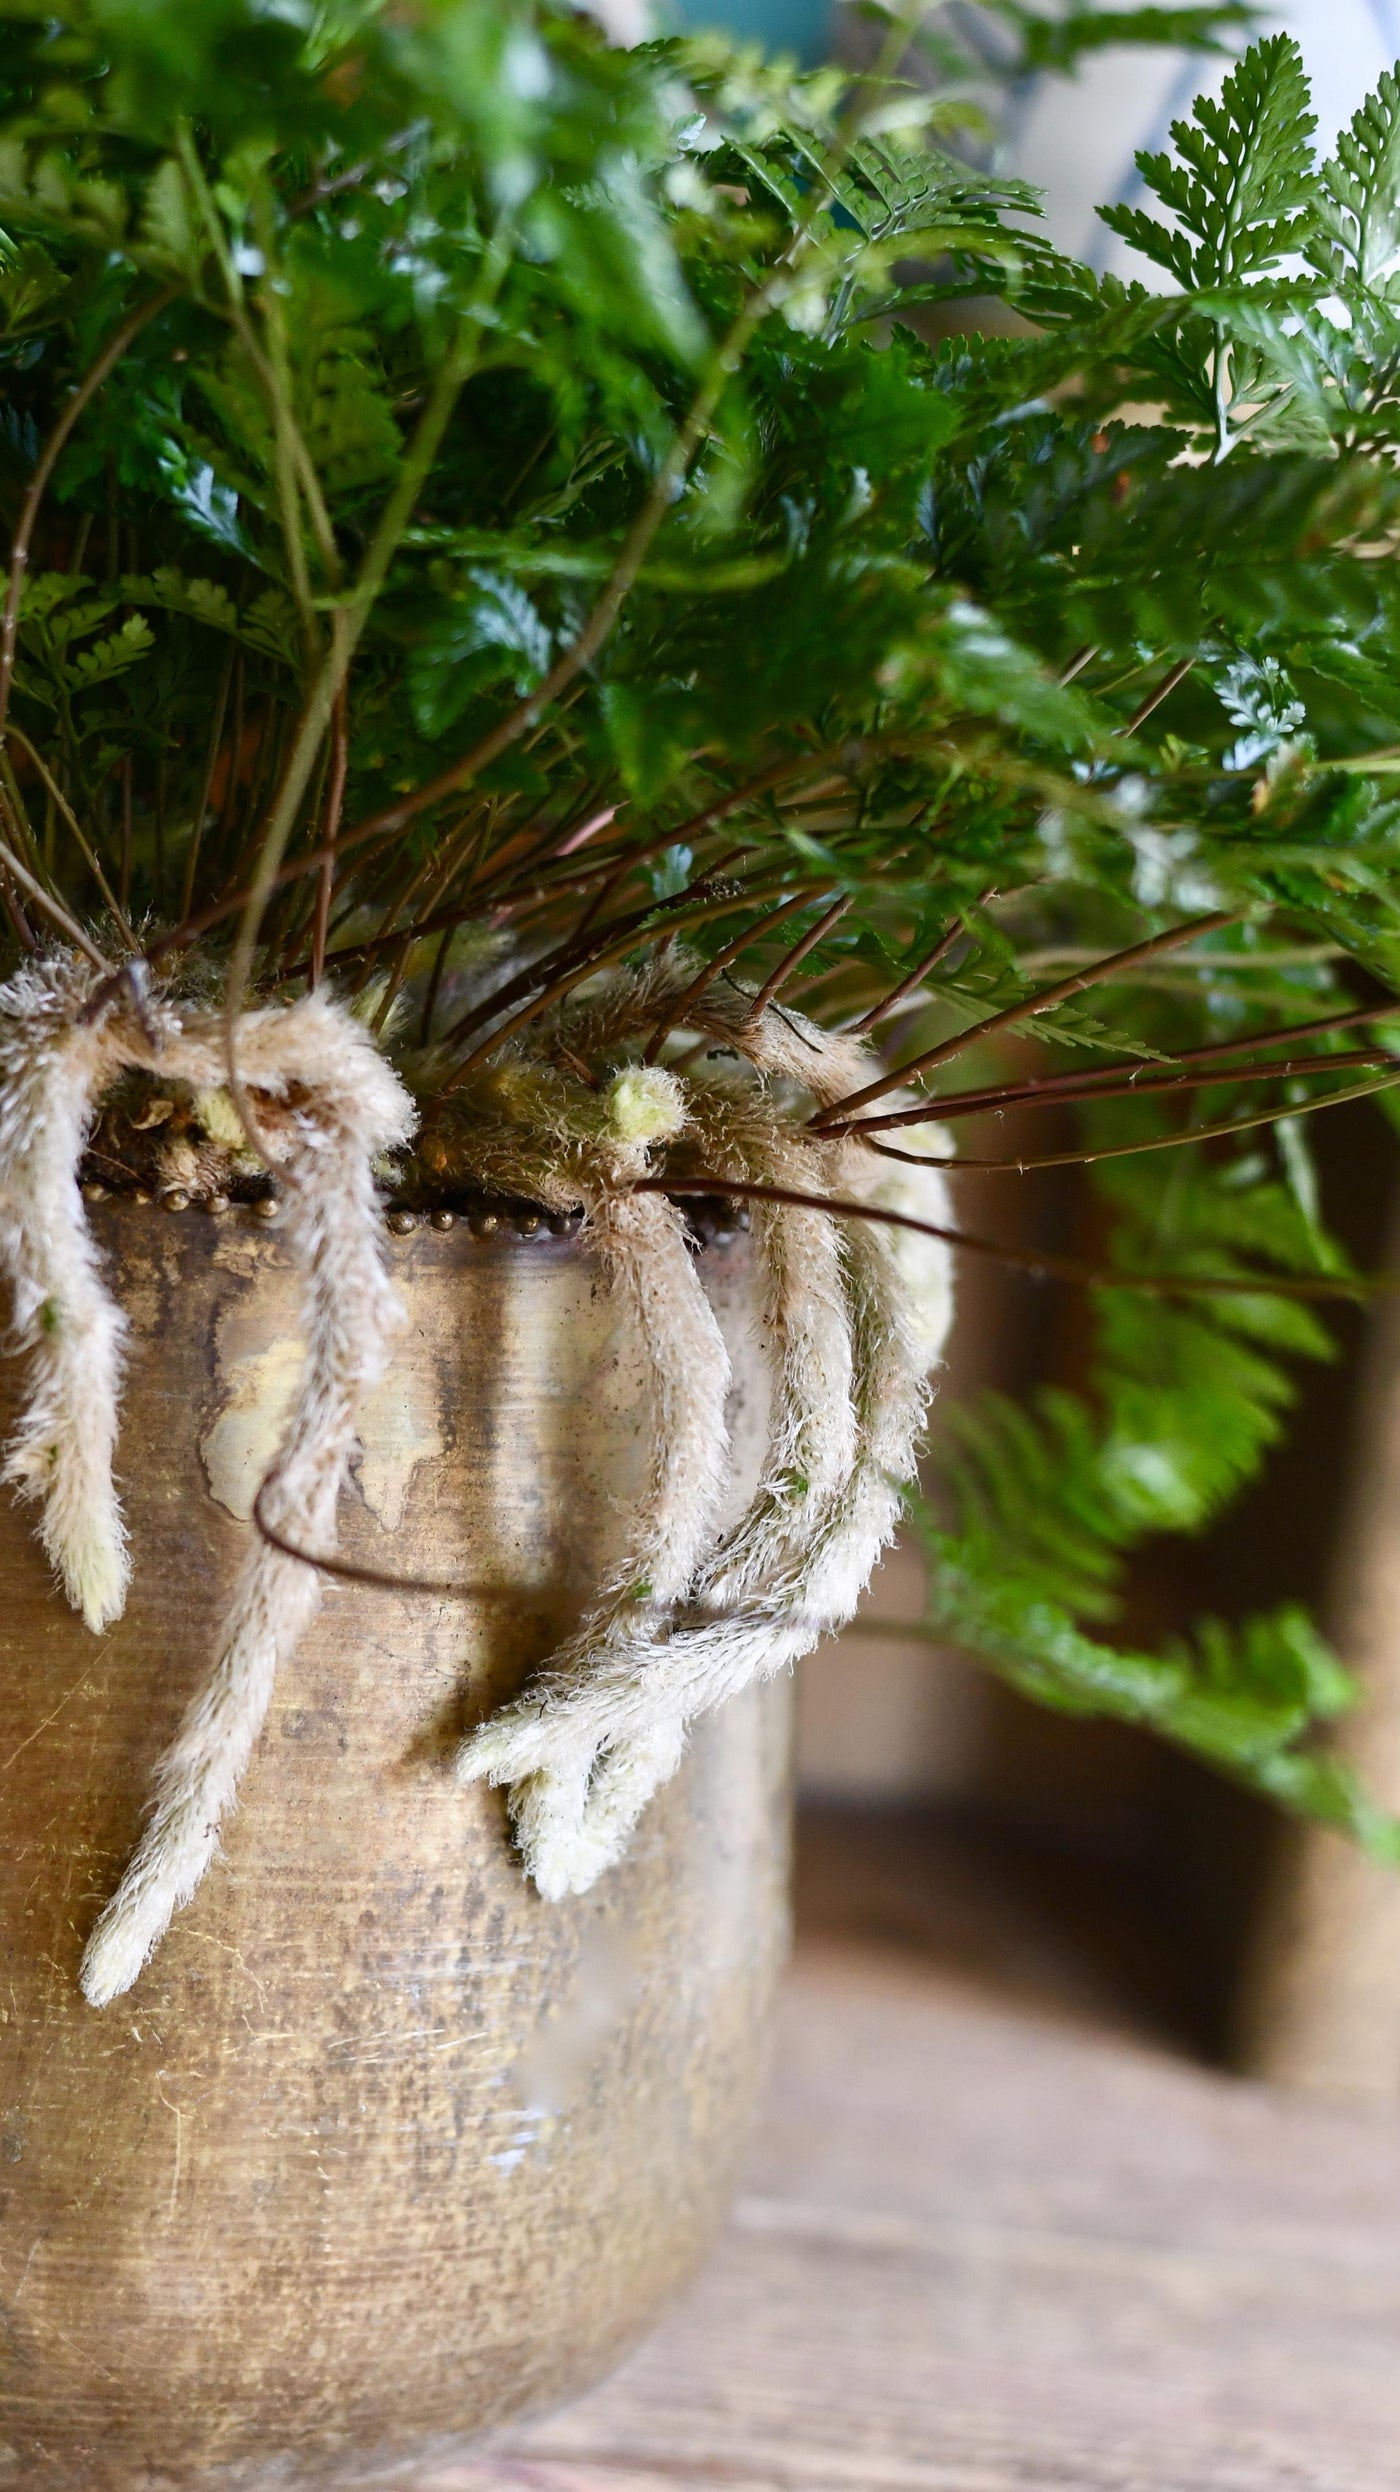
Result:
{"type": "Polygon", "coordinates": [[[1355,1697],[1300,1610],[1241,1627],[1206,1620],[1161,1655],[1084,1635],[1084,1620],[1114,1617],[1138,1543],[1201,1530],[1253,1478],[1295,1393],[1288,1361],[1330,1353],[1315,1316],[1270,1293],[1260,1266],[1338,1263],[1298,1189],[1258,1181],[1248,1164],[1119,1164],[1104,1191],[1121,1219],[1121,1268],[1258,1271],[1258,1296],[1111,1293],[1089,1396],[1044,1388],[1026,1405],[991,1393],[947,1415],[939,1478],[954,1528],[919,1513],[927,1632],[1044,1705],[1151,1724],[1283,1807],[1400,1857],[1400,1829],[1333,1757],[1300,1744],[1355,1697]]]}

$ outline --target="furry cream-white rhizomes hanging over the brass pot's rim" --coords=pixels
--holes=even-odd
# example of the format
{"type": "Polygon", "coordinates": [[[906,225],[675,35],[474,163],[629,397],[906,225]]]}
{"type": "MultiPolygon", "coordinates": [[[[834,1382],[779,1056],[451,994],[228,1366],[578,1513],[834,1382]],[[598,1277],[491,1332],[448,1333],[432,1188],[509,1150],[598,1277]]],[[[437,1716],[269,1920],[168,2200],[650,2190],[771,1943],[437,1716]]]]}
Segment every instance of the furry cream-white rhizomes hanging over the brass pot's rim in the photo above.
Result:
{"type": "MultiPolygon", "coordinates": [[[[802,1129],[812,1104],[830,1106],[869,1077],[862,1042],[790,1009],[755,1014],[737,989],[695,1004],[693,967],[673,954],[590,982],[528,1049],[451,1096],[433,1099],[428,1062],[414,1067],[428,1096],[421,1164],[448,1181],[443,1191],[536,1204],[521,1219],[551,1229],[580,1221],[645,1363],[650,1473],[623,1558],[575,1635],[456,1754],[463,1782],[506,1784],[523,1867],[546,1896],[578,1894],[620,1859],[698,1714],[849,1620],[914,1473],[952,1316],[944,1241],[840,1219],[810,1199],[755,1201],[770,1440],[745,1515],[717,1530],[730,1361],[690,1224],[660,1191],[658,1154],[668,1171],[702,1166],[740,1189],[805,1196],[820,1186],[934,1226],[947,1224],[947,1191],[934,1166],[872,1164],[859,1144],[802,1129]],[[635,1062],[668,1012],[688,1039],[680,1062],[635,1062]]],[[[232,1037],[239,1109],[224,1089],[229,1032],[217,1012],[137,997],[67,952],[0,987],[0,1263],[12,1346],[27,1361],[0,1475],[37,1503],[40,1540],[95,1632],[120,1617],[130,1577],[112,1480],[125,1318],[85,1216],[85,1194],[105,1189],[92,1176],[80,1184],[107,1091],[132,1072],[189,1087],[199,1101],[194,1139],[179,1134],[189,1156],[159,1146],[172,1181],[157,1179],[149,1199],[219,1211],[229,1184],[244,1194],[252,1184],[252,1211],[279,1219],[301,1271],[306,1366],[254,1505],[264,1530],[212,1672],[157,1764],[142,1839],[90,1936],[82,1989],[95,2006],[132,1986],[199,1886],[277,1667],[319,1607],[319,1567],[296,1550],[334,1550],[356,1408],[401,1323],[386,1226],[456,1216],[411,1201],[386,1216],[379,1176],[394,1181],[389,1154],[409,1144],[419,1109],[324,989],[244,1012],[232,1037]]],[[[169,1114],[164,1099],[130,1121],[144,1129],[169,1114]]],[[[937,1126],[912,1136],[919,1154],[942,1156],[937,1126]]]]}

